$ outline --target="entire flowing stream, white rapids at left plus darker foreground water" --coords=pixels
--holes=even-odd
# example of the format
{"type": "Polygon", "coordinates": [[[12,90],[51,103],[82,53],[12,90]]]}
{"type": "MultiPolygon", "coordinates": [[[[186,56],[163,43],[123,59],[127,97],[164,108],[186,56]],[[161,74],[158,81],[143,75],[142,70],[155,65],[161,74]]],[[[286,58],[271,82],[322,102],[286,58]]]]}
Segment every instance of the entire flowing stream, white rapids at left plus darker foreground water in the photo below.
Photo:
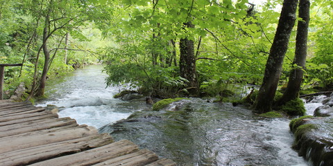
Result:
{"type": "Polygon", "coordinates": [[[260,118],[242,107],[198,98],[150,111],[144,98],[112,98],[119,88],[105,89],[101,68],[88,66],[53,80],[46,89],[49,99],[38,104],[56,105],[60,117],[99,128],[115,140],[131,140],[178,165],[309,165],[291,149],[289,119],[260,118]]]}

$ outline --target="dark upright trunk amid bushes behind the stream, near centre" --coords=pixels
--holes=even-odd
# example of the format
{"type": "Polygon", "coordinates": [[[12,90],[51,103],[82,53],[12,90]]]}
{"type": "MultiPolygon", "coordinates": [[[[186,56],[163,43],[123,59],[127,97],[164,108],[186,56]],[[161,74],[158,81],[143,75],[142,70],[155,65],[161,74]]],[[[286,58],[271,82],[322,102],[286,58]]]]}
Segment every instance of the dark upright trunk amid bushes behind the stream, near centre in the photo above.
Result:
{"type": "MultiPolygon", "coordinates": [[[[190,22],[185,24],[187,27],[194,27],[190,22]]],[[[187,89],[191,95],[198,93],[198,80],[196,75],[196,57],[194,57],[194,41],[180,39],[180,77],[187,79],[187,89]]]]}

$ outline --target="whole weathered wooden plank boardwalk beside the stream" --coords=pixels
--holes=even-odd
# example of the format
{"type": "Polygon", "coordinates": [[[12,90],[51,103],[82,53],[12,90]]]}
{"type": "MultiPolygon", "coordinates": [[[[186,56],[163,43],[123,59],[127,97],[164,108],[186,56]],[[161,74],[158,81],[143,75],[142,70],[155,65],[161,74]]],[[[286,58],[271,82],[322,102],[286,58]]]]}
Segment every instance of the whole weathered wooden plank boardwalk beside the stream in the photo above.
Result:
{"type": "Polygon", "coordinates": [[[129,140],[23,102],[0,100],[0,165],[176,165],[129,140]]]}

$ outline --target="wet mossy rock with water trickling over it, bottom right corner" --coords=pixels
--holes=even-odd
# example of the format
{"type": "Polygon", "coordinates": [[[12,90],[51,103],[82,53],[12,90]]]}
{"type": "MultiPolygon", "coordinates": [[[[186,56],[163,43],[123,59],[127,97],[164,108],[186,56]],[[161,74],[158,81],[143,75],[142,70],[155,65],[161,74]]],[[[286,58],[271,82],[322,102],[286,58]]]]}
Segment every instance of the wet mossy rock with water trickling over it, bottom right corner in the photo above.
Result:
{"type": "Polygon", "coordinates": [[[295,135],[293,147],[311,165],[333,165],[332,121],[333,116],[306,117],[291,121],[291,131],[295,135]]]}

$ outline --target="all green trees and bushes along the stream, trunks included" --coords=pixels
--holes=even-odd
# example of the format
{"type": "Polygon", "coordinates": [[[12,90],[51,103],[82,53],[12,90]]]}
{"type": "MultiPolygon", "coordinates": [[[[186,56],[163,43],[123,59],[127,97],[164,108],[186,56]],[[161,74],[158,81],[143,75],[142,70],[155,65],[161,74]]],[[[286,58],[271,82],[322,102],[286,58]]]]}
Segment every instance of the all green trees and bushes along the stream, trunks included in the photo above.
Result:
{"type": "MultiPolygon", "coordinates": [[[[6,68],[5,97],[24,82],[24,100],[41,98],[50,78],[104,63],[108,86],[149,97],[212,97],[259,114],[302,116],[300,90],[332,91],[332,6],[329,0],[311,6],[308,0],[3,1],[0,63],[24,64],[6,68]],[[236,101],[241,97],[232,93],[249,84],[259,91],[236,101]]],[[[266,114],[272,115],[278,116],[266,114]]]]}

